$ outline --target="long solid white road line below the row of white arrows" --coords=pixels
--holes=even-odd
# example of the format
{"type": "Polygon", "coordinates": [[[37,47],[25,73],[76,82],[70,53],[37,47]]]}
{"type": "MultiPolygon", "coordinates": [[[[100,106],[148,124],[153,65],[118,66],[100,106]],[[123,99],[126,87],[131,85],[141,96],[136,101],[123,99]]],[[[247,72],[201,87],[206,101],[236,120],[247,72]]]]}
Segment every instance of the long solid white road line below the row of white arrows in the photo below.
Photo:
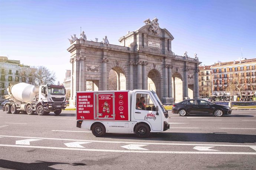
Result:
{"type": "Polygon", "coordinates": [[[107,149],[84,149],[84,148],[70,148],[70,147],[46,147],[46,146],[25,146],[25,145],[2,145],[5,147],[27,147],[40,149],[59,149],[59,150],[80,150],[93,152],[121,152],[121,153],[174,153],[174,154],[246,154],[256,155],[256,152],[177,152],[177,151],[150,151],[150,150],[107,150],[107,149]]]}

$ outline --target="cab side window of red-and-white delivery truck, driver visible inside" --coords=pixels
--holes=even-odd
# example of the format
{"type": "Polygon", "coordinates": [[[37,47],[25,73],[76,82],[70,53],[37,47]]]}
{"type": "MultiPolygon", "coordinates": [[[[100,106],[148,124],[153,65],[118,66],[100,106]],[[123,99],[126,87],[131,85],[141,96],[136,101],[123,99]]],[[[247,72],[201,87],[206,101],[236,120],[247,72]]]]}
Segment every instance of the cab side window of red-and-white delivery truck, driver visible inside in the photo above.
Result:
{"type": "Polygon", "coordinates": [[[155,111],[156,107],[149,95],[138,93],[136,95],[136,109],[155,111]]]}

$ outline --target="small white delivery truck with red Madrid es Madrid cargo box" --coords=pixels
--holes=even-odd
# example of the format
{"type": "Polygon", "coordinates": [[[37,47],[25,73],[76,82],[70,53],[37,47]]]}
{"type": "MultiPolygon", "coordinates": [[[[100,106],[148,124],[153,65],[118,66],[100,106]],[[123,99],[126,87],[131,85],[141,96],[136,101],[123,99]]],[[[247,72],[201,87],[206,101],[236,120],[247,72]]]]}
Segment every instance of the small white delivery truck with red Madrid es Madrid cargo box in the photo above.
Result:
{"type": "Polygon", "coordinates": [[[91,91],[76,93],[76,127],[91,130],[94,136],[105,133],[150,132],[170,128],[168,111],[154,91],[91,91]]]}

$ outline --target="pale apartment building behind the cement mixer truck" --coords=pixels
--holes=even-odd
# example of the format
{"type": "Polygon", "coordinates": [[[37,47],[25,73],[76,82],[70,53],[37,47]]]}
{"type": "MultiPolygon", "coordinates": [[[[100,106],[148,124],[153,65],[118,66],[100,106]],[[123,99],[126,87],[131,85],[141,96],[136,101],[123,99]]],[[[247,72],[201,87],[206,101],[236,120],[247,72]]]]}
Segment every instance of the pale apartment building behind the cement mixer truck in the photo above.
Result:
{"type": "Polygon", "coordinates": [[[10,84],[25,82],[32,84],[33,68],[28,65],[20,64],[19,60],[10,60],[8,57],[0,56],[0,101],[7,95],[7,87],[10,84]]]}

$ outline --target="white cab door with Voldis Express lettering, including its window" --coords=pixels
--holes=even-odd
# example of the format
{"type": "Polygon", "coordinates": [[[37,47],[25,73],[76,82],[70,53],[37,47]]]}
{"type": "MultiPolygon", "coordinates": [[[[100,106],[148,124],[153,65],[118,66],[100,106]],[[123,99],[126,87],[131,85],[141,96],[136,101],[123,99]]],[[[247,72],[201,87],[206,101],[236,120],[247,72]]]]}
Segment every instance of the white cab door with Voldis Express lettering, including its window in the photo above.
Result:
{"type": "Polygon", "coordinates": [[[162,115],[158,111],[159,115],[156,115],[156,103],[153,100],[154,97],[147,92],[136,92],[135,102],[132,103],[134,107],[134,119],[144,120],[151,125],[152,130],[162,130],[162,115]]]}

